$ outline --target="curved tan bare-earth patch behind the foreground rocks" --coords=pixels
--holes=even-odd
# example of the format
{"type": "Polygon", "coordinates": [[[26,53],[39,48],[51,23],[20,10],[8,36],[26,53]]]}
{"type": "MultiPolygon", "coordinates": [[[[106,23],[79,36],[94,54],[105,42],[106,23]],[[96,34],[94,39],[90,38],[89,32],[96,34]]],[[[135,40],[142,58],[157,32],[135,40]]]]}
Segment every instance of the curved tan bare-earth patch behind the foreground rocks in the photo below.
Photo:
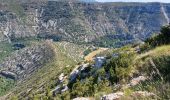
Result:
{"type": "Polygon", "coordinates": [[[91,53],[89,53],[87,56],[84,57],[85,61],[92,61],[93,57],[95,57],[97,54],[108,50],[108,48],[99,48],[91,53]]]}

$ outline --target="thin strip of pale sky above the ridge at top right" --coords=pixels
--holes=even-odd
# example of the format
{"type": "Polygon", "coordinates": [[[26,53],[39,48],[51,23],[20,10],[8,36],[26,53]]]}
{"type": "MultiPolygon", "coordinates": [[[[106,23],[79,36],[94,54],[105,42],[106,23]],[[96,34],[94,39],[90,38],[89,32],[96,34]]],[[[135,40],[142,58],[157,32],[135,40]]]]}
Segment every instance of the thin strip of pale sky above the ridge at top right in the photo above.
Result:
{"type": "Polygon", "coordinates": [[[99,2],[165,2],[170,3],[170,0],[96,0],[99,2]]]}

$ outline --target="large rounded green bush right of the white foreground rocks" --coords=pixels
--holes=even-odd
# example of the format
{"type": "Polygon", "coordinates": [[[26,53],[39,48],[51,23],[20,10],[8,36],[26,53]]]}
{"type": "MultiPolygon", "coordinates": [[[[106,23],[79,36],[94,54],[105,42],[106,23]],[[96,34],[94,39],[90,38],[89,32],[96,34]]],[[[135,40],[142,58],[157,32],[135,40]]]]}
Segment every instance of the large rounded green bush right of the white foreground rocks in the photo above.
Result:
{"type": "Polygon", "coordinates": [[[135,53],[120,53],[118,57],[113,57],[105,66],[106,72],[110,74],[109,80],[112,83],[123,82],[132,72],[135,53]],[[128,58],[128,59],[127,59],[128,58]]]}

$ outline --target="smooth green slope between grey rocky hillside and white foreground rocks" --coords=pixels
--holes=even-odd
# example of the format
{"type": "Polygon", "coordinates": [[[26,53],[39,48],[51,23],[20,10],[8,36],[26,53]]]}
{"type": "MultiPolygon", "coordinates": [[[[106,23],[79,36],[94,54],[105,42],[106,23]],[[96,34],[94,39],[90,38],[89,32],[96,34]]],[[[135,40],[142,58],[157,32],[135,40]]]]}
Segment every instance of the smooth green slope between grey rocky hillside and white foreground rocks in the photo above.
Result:
{"type": "Polygon", "coordinates": [[[73,59],[73,55],[71,53],[77,54],[77,52],[83,52],[83,46],[73,45],[71,43],[53,43],[53,48],[56,51],[55,59],[45,65],[43,68],[39,69],[35,74],[26,79],[24,82],[18,83],[17,87],[13,89],[14,94],[22,98],[33,97],[34,95],[45,95],[46,89],[50,87],[50,90],[54,89],[53,86],[57,83],[58,76],[66,72],[69,69],[74,68],[78,61],[81,61],[81,57],[79,55],[75,55],[75,61],[73,59]],[[73,52],[72,48],[64,49],[64,44],[72,46],[72,48],[76,48],[76,52],[73,52]],[[79,47],[79,48],[78,48],[79,47]],[[69,50],[69,52],[67,51],[69,50]],[[52,88],[51,88],[52,87],[52,88]]]}

